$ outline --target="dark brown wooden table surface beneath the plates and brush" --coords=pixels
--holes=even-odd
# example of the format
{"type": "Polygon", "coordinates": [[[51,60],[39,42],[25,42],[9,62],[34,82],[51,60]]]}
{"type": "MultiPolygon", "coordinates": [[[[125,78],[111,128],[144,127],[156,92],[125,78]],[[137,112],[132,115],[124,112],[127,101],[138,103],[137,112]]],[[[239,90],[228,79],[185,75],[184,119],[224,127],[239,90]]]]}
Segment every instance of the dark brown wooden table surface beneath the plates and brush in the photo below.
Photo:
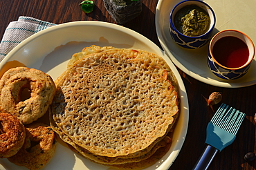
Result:
{"type": "MultiPolygon", "coordinates": [[[[19,16],[35,17],[52,23],[81,20],[115,23],[104,8],[103,1],[95,0],[95,9],[91,14],[85,14],[80,10],[80,6],[78,6],[80,2],[79,0],[1,0],[0,37],[3,37],[8,23],[17,20],[19,16]]],[[[140,16],[123,26],[139,32],[161,47],[155,28],[157,3],[157,0],[143,0],[143,12],[140,16]]],[[[199,82],[189,75],[185,75],[181,70],[180,73],[188,94],[190,118],[185,142],[170,170],[192,169],[205,148],[205,129],[213,112],[207,106],[203,96],[208,97],[214,91],[221,91],[223,93],[222,102],[246,113],[246,118],[237,133],[235,142],[221,153],[217,153],[209,169],[256,169],[256,160],[250,163],[244,160],[246,153],[255,152],[256,85],[244,88],[221,88],[199,82]]],[[[214,106],[214,109],[216,110],[218,106],[214,106]]]]}

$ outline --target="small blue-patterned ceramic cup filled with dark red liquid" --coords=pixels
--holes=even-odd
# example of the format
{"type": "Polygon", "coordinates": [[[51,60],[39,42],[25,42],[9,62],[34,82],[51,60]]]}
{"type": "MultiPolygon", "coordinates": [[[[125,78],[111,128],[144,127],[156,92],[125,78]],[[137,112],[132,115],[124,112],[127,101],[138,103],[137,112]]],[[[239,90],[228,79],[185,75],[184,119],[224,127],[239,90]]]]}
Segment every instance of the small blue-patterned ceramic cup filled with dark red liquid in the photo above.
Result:
{"type": "Polygon", "coordinates": [[[208,66],[222,79],[245,75],[255,55],[253,41],[239,30],[222,30],[210,41],[208,66]]]}

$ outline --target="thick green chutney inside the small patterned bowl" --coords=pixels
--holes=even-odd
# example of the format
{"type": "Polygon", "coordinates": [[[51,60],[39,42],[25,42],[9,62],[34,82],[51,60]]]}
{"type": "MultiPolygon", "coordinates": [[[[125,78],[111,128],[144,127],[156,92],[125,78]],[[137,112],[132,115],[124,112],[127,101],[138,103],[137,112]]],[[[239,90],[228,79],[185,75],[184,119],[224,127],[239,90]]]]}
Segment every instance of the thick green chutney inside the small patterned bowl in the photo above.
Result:
{"type": "Polygon", "coordinates": [[[198,37],[210,28],[210,17],[205,10],[196,5],[181,8],[174,16],[174,26],[183,35],[198,37]]]}

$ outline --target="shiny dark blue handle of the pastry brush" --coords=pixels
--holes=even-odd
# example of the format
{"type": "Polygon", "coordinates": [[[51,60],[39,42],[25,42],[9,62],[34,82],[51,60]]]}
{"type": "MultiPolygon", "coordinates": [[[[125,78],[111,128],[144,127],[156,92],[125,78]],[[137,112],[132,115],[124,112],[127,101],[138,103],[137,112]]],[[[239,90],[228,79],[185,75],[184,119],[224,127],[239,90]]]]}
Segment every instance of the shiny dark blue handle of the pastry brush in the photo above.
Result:
{"type": "Polygon", "coordinates": [[[206,170],[208,169],[210,163],[212,162],[214,156],[219,150],[207,145],[205,147],[205,150],[203,151],[203,154],[201,155],[201,158],[197,161],[196,165],[194,166],[193,170],[206,170]]]}

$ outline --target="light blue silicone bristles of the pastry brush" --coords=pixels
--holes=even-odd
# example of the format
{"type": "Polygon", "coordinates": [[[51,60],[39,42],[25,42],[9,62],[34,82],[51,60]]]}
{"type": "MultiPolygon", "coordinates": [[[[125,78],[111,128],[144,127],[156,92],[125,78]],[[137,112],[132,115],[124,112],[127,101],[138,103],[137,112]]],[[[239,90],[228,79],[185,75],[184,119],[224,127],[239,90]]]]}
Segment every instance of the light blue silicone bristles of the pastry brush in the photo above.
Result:
{"type": "Polygon", "coordinates": [[[229,106],[226,104],[221,104],[210,122],[214,124],[214,126],[218,126],[224,131],[236,135],[241,122],[244,120],[245,114],[236,111],[236,109],[232,107],[228,109],[228,107],[229,106]]]}

